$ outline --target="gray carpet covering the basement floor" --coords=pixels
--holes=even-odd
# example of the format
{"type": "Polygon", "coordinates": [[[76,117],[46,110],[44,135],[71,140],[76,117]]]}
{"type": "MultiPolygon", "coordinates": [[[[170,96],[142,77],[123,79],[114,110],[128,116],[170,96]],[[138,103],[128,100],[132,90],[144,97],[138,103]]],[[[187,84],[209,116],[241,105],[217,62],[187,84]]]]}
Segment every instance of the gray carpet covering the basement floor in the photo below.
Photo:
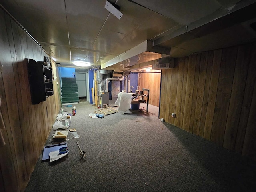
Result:
{"type": "MultiPolygon", "coordinates": [[[[149,114],[129,110],[94,119],[88,102],[75,106],[70,128],[80,138],[65,141],[69,154],[56,162],[40,156],[27,192],[256,191],[256,162],[161,122],[157,107],[150,106],[149,114]]],[[[72,107],[64,109],[71,113],[72,107]]],[[[57,143],[47,140],[46,146],[57,143]]]]}

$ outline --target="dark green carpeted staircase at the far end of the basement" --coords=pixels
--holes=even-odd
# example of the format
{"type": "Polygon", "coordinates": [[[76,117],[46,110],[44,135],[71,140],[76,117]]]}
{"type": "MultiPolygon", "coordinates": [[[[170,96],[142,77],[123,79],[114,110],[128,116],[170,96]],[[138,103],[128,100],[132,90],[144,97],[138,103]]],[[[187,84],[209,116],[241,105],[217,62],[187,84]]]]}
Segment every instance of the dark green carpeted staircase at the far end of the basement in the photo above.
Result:
{"type": "Polygon", "coordinates": [[[79,102],[78,87],[76,78],[62,77],[61,102],[74,103],[79,102]]]}

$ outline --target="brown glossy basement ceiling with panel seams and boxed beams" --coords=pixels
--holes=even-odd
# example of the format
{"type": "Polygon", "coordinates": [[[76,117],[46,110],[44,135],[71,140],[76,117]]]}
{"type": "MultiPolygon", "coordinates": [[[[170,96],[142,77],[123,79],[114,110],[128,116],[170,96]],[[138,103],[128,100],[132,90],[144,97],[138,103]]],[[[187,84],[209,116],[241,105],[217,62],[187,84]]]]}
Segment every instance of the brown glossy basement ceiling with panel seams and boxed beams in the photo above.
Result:
{"type": "Polygon", "coordinates": [[[106,10],[106,0],[0,0],[63,67],[75,67],[73,61],[83,60],[107,70],[130,70],[160,57],[188,56],[256,40],[250,27],[256,22],[256,0],[109,2],[120,7],[120,20],[106,10]],[[136,49],[144,42],[150,42],[152,50],[170,51],[136,49]]]}

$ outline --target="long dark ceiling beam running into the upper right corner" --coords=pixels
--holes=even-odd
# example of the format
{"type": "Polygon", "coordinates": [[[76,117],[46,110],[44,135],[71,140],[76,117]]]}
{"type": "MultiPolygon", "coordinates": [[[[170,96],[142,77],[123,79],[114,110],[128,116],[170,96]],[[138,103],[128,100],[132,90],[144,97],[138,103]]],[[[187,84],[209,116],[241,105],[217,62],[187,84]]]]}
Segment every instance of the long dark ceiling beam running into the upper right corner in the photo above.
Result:
{"type": "MultiPolygon", "coordinates": [[[[220,9],[178,30],[166,32],[166,35],[153,41],[154,46],[160,45],[182,34],[192,33],[194,38],[216,32],[228,26],[249,20],[256,16],[256,0],[243,0],[226,9],[220,9]]],[[[191,36],[193,38],[193,36],[191,36]]]]}

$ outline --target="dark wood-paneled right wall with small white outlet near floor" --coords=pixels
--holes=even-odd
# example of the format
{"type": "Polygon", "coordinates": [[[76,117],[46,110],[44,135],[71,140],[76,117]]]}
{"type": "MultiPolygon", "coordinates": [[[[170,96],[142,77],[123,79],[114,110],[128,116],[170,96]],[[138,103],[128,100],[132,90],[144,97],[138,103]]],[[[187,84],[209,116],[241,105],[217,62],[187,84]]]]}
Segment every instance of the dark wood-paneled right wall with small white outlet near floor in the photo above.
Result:
{"type": "Polygon", "coordinates": [[[256,43],[177,58],[162,70],[160,118],[256,160],[255,79],[256,43]]]}

